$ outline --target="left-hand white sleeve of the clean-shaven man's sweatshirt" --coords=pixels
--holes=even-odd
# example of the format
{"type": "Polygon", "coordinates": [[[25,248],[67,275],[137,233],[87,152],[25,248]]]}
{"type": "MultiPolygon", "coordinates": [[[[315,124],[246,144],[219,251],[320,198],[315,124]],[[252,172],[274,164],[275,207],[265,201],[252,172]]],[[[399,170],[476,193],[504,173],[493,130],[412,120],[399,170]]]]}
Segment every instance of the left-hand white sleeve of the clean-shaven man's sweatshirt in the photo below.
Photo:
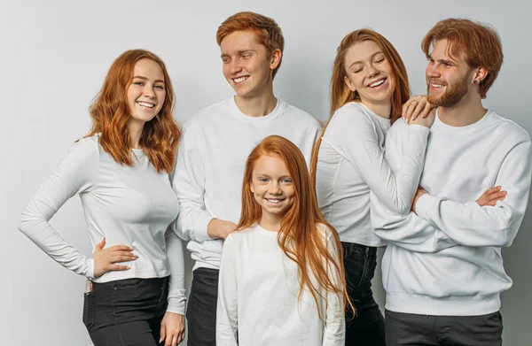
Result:
{"type": "Polygon", "coordinates": [[[207,226],[213,217],[203,203],[205,166],[200,155],[200,134],[196,132],[194,127],[184,129],[172,186],[179,199],[176,234],[184,240],[203,242],[211,240],[207,235],[207,226]]]}

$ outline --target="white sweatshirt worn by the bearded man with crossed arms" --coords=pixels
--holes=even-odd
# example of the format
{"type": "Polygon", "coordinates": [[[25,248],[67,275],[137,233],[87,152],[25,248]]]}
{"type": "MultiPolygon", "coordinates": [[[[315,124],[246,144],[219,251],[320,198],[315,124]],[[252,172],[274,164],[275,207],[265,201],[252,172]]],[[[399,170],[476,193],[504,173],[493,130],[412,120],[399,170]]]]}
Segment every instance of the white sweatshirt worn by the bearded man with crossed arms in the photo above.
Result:
{"type": "MultiPolygon", "coordinates": [[[[397,172],[408,140],[403,120],[387,133],[386,160],[397,172]]],[[[390,311],[473,316],[498,311],[512,286],[501,247],[510,246],[527,210],[529,135],[488,111],[466,127],[450,127],[436,114],[413,212],[397,214],[372,196],[372,225],[388,242],[382,280],[390,311]],[[508,192],[496,206],[475,200],[488,188],[508,192]]]]}

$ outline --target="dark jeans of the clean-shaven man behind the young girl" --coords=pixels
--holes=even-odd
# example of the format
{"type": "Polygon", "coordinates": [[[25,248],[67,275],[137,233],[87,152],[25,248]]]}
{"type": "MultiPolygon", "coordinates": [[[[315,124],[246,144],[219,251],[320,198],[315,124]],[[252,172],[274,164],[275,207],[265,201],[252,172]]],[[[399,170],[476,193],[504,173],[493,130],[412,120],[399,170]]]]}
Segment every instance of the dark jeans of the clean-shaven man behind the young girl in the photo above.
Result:
{"type": "MultiPolygon", "coordinates": [[[[219,273],[219,270],[208,268],[198,268],[194,271],[186,309],[188,346],[216,345],[219,273]]],[[[257,313],[261,312],[257,311],[257,313]]]]}

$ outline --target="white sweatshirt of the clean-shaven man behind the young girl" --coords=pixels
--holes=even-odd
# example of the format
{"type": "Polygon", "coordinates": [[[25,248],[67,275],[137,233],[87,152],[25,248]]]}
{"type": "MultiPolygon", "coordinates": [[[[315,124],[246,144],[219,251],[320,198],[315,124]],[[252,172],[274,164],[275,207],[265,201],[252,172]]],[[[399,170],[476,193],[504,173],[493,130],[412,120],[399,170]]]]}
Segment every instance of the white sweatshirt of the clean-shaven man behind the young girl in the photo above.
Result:
{"type": "Polygon", "coordinates": [[[251,150],[269,135],[293,142],[309,164],[320,132],[317,119],[278,99],[270,114],[250,117],[239,111],[234,97],[196,113],[184,125],[173,187],[180,211],[176,232],[200,267],[219,269],[221,239],[211,239],[211,219],[237,224],[242,203],[242,179],[251,150]]]}

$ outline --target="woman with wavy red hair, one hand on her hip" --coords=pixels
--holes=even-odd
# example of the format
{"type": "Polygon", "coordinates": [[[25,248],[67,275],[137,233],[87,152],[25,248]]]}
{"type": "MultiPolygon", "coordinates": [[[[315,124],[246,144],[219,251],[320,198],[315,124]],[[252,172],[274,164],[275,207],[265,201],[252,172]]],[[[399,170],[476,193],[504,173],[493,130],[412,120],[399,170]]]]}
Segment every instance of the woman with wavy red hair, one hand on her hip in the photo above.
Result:
{"type": "Polygon", "coordinates": [[[90,279],[83,323],[95,345],[173,345],[184,339],[184,257],[170,224],[179,205],[168,174],[181,135],[164,63],[121,54],[90,107],[90,134],[32,197],[20,231],[60,265],[90,279]],[[94,254],[49,220],[79,195],[94,254]]]}

